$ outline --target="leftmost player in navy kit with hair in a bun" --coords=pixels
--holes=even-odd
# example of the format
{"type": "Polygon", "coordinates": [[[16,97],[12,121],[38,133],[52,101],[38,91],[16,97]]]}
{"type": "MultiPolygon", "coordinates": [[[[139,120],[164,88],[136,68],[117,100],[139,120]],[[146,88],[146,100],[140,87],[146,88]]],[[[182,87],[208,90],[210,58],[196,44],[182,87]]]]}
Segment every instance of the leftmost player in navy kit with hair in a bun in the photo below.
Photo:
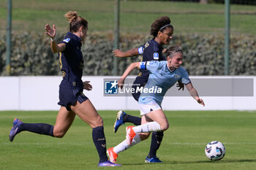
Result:
{"type": "Polygon", "coordinates": [[[45,25],[45,34],[50,36],[50,47],[53,53],[59,53],[59,61],[63,80],[59,85],[59,113],[55,125],[47,123],[23,123],[18,119],[13,121],[10,131],[10,142],[21,131],[31,131],[36,134],[62,138],[72,125],[75,115],[92,128],[92,138],[99,154],[98,166],[121,166],[108,161],[106,141],[102,117],[98,114],[89,98],[83,94],[83,89],[91,90],[88,81],[81,80],[83,74],[82,42],[86,39],[88,22],[78,15],[78,12],[69,11],[65,14],[69,22],[69,32],[61,43],[56,43],[56,26],[50,28],[45,25]]]}

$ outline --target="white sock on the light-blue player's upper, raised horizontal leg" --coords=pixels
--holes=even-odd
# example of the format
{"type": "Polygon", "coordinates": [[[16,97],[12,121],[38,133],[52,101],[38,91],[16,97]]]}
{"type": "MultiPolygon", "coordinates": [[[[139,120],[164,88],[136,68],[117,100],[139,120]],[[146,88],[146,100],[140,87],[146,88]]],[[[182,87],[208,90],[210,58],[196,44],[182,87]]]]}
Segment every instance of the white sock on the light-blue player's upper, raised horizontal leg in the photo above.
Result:
{"type": "Polygon", "coordinates": [[[151,132],[151,131],[161,131],[161,127],[157,122],[149,122],[143,125],[138,125],[132,128],[136,134],[140,132],[151,132]]]}

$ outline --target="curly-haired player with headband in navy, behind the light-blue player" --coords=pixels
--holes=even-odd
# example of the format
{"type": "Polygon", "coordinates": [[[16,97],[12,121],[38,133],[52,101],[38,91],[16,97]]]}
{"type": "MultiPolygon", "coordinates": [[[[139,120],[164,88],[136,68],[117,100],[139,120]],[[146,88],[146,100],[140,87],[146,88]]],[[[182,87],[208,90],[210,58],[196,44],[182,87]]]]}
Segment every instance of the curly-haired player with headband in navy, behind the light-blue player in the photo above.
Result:
{"type": "MultiPolygon", "coordinates": [[[[128,50],[127,52],[123,53],[121,50],[114,50],[113,55],[115,57],[129,57],[132,55],[143,54],[142,61],[165,61],[165,56],[162,54],[163,47],[162,45],[168,45],[170,39],[173,36],[173,26],[170,25],[170,18],[167,16],[163,16],[158,18],[154,21],[151,25],[151,35],[153,39],[146,42],[143,47],[139,47],[138,49],[128,50]]],[[[148,70],[140,69],[140,74],[136,77],[135,82],[133,82],[132,88],[141,88],[148,82],[148,70]]],[[[183,85],[181,83],[181,85],[183,85]]],[[[133,98],[138,101],[140,97],[140,91],[135,90],[137,93],[132,93],[133,98]]],[[[135,125],[141,124],[141,117],[135,117],[132,115],[128,115],[126,112],[119,111],[117,113],[116,122],[114,124],[114,132],[118,130],[118,128],[126,123],[133,123],[135,125]]],[[[146,163],[159,163],[162,162],[157,158],[157,150],[162,142],[164,134],[162,131],[153,132],[151,136],[151,147],[146,156],[145,162],[146,163]]]]}

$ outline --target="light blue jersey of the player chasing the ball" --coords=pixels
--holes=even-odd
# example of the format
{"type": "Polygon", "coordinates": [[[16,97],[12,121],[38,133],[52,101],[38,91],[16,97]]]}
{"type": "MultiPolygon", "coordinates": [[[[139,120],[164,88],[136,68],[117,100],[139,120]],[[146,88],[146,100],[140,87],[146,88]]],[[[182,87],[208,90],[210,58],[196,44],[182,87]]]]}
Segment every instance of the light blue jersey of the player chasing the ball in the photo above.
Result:
{"type": "Polygon", "coordinates": [[[147,61],[140,62],[140,69],[150,72],[148,82],[141,89],[139,104],[150,104],[152,100],[157,101],[161,106],[162,99],[167,90],[181,80],[184,85],[189,84],[189,74],[187,70],[179,67],[173,71],[167,67],[167,61],[147,61]]]}

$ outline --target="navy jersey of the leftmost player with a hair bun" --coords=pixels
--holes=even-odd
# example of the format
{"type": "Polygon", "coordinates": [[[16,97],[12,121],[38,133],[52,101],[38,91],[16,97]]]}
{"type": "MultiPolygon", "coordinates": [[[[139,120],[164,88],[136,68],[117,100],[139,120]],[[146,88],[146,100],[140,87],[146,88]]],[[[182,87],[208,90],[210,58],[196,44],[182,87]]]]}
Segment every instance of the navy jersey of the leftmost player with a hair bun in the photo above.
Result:
{"type": "Polygon", "coordinates": [[[75,34],[68,32],[61,43],[64,43],[66,48],[59,53],[59,63],[63,76],[59,87],[83,89],[83,54],[81,52],[81,39],[75,34]]]}

